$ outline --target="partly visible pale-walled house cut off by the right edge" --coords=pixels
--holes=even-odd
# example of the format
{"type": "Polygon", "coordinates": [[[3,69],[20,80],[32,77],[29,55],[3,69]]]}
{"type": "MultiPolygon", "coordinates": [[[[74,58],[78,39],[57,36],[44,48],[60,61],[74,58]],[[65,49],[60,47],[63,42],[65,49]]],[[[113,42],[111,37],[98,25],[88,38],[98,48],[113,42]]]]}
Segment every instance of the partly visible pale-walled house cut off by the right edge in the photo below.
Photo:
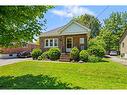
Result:
{"type": "Polygon", "coordinates": [[[127,58],[127,30],[123,33],[120,39],[120,54],[121,57],[127,58]]]}

